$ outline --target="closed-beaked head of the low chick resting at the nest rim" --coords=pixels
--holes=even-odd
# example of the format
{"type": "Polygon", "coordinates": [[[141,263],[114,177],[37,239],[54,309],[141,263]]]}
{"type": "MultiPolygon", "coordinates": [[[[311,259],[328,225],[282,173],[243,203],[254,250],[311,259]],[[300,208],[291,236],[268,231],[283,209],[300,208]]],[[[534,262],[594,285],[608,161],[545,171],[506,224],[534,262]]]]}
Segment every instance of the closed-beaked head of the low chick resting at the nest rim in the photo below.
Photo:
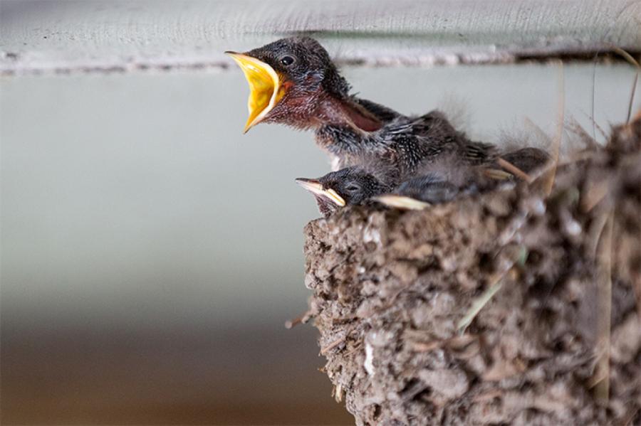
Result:
{"type": "Polygon", "coordinates": [[[296,183],[313,194],[325,217],[341,207],[363,204],[388,190],[377,177],[357,166],[333,171],[318,179],[298,178],[296,183]]]}

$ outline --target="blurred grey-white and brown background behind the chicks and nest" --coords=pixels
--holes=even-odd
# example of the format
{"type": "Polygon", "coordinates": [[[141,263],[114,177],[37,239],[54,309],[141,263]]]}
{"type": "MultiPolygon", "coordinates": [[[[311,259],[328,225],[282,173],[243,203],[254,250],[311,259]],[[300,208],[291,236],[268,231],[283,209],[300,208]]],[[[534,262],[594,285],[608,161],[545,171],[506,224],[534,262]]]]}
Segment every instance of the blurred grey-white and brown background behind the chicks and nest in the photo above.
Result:
{"type": "Polygon", "coordinates": [[[222,52],[311,33],[401,112],[462,105],[500,142],[552,134],[564,97],[603,139],[635,68],[595,53],[638,55],[639,5],[1,1],[0,421],[350,424],[314,329],[283,326],[318,217],[293,179],[327,160],[308,133],[242,134],[222,52]]]}

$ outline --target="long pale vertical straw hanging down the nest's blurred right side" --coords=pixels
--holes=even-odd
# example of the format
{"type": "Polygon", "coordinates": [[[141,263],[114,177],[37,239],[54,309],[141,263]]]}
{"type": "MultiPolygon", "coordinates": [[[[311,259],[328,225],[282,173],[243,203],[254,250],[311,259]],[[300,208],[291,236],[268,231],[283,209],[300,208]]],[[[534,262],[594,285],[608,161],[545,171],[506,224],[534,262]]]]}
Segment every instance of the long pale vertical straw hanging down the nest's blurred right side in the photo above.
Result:
{"type": "Polygon", "coordinates": [[[597,345],[600,357],[594,372],[595,399],[608,405],[610,399],[610,317],[612,315],[612,229],[614,212],[607,213],[607,220],[598,245],[598,324],[597,345]]]}

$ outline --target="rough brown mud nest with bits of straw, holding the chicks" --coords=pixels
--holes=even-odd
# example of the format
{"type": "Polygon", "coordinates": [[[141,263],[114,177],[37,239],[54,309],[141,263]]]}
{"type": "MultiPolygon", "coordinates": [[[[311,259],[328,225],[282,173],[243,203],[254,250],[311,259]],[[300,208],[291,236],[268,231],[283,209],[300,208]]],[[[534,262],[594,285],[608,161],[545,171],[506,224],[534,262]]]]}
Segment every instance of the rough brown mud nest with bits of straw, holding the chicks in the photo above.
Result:
{"type": "Polygon", "coordinates": [[[553,180],[308,223],[306,319],[356,423],[640,425],[640,141],[636,119],[553,180]]]}

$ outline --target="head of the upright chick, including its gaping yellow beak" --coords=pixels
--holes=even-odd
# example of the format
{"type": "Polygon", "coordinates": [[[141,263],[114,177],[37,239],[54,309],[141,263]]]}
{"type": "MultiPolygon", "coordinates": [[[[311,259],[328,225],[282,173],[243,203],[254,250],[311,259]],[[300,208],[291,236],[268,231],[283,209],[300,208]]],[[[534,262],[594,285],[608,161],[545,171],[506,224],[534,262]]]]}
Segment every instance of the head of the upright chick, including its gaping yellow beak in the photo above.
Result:
{"type": "Polygon", "coordinates": [[[245,132],[259,122],[308,127],[319,97],[343,99],[350,90],[327,50],[313,38],[281,38],[246,53],[226,53],[249,83],[245,132]]]}

